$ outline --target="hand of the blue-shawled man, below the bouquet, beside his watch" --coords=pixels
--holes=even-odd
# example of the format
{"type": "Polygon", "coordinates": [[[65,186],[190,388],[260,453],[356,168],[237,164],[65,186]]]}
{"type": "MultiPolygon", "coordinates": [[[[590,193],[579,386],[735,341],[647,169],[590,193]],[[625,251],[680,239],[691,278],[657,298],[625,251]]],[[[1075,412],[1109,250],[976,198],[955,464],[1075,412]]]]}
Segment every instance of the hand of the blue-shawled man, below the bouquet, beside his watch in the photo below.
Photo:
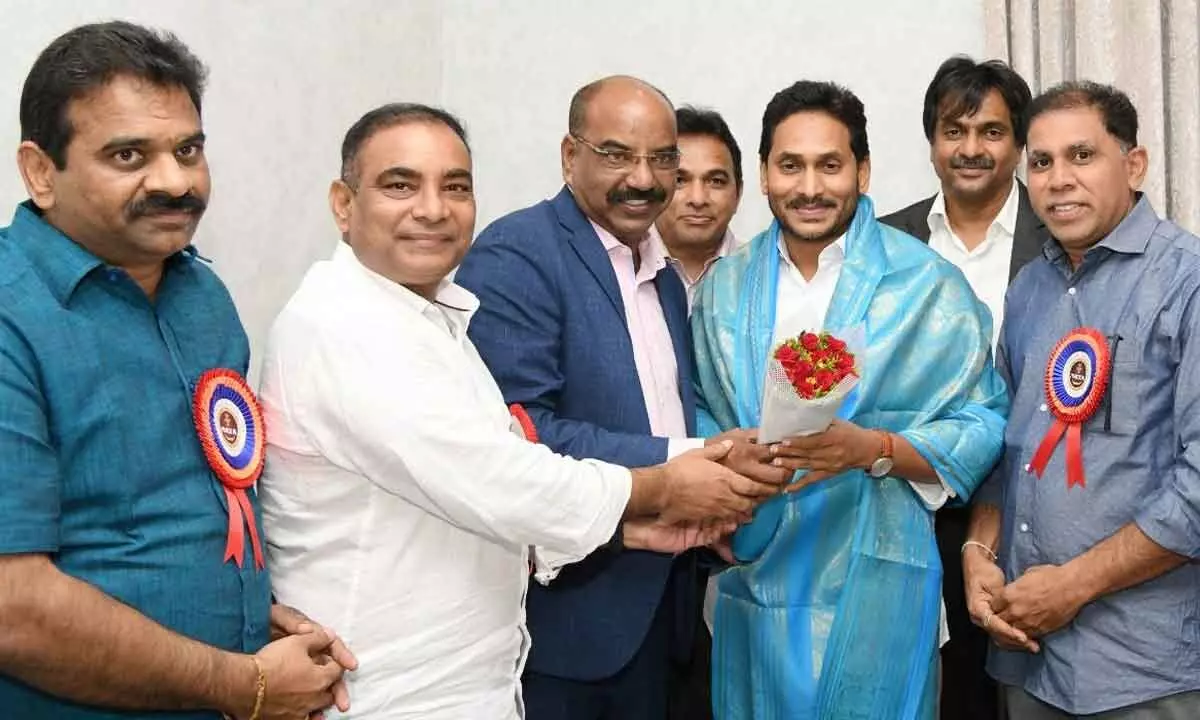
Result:
{"type": "Polygon", "coordinates": [[[776,467],[808,470],[785,492],[833,478],[851,469],[869,468],[880,456],[878,431],[859,427],[847,420],[834,420],[823,432],[784,438],[770,445],[776,467]]]}

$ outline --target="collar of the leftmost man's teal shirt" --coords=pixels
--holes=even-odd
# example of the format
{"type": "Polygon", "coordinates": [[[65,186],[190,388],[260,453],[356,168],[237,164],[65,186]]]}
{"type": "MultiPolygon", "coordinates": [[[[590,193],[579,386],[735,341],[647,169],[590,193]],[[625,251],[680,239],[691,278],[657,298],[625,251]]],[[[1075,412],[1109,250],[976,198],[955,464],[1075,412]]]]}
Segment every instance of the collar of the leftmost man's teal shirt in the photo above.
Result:
{"type": "MultiPolygon", "coordinates": [[[[22,246],[37,274],[60,305],[66,305],[76,288],[90,272],[103,268],[104,262],[61,230],[46,222],[32,200],[17,205],[8,228],[8,238],[22,246]]],[[[193,245],[167,258],[163,272],[192,259],[204,259],[193,245]]]]}

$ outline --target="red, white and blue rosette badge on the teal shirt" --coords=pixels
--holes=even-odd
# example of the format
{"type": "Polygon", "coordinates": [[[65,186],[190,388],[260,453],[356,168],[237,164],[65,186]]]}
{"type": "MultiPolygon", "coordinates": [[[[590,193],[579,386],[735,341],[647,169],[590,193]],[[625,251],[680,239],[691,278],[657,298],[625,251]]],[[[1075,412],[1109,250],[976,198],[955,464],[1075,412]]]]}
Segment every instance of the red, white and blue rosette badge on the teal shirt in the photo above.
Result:
{"type": "Polygon", "coordinates": [[[192,420],[229,506],[224,562],[241,568],[250,530],[254,566],[262,570],[263,545],[254,524],[254,509],[246,491],[263,474],[265,437],[263,410],[245,378],[232,370],[210,370],[200,376],[192,396],[192,420]]]}

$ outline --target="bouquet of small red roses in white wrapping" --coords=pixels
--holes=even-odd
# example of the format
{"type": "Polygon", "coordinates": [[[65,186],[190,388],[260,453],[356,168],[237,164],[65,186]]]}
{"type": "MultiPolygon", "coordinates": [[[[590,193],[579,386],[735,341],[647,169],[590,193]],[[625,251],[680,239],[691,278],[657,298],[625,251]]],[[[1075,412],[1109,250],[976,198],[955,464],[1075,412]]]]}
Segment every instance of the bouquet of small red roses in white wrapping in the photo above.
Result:
{"type": "Polygon", "coordinates": [[[858,378],[854,350],[829,332],[805,331],[779,343],[767,360],[758,442],[826,430],[858,378]]]}

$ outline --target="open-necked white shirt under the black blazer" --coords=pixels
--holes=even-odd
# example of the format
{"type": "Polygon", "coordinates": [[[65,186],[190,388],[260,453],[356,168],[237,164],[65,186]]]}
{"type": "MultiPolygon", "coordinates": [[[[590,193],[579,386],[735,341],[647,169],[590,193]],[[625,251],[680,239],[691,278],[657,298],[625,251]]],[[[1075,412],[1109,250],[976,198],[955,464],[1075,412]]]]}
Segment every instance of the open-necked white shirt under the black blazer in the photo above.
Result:
{"type": "Polygon", "coordinates": [[[1008,290],[1008,270],[1013,262],[1013,236],[1016,234],[1016,210],[1020,193],[1016,180],[988,227],[983,242],[967,250],[946,220],[946,197],[937,193],[929,209],[929,246],[954,263],[967,277],[971,289],[991,312],[991,349],[1000,342],[1000,324],[1004,319],[1004,292],[1008,290]]]}

